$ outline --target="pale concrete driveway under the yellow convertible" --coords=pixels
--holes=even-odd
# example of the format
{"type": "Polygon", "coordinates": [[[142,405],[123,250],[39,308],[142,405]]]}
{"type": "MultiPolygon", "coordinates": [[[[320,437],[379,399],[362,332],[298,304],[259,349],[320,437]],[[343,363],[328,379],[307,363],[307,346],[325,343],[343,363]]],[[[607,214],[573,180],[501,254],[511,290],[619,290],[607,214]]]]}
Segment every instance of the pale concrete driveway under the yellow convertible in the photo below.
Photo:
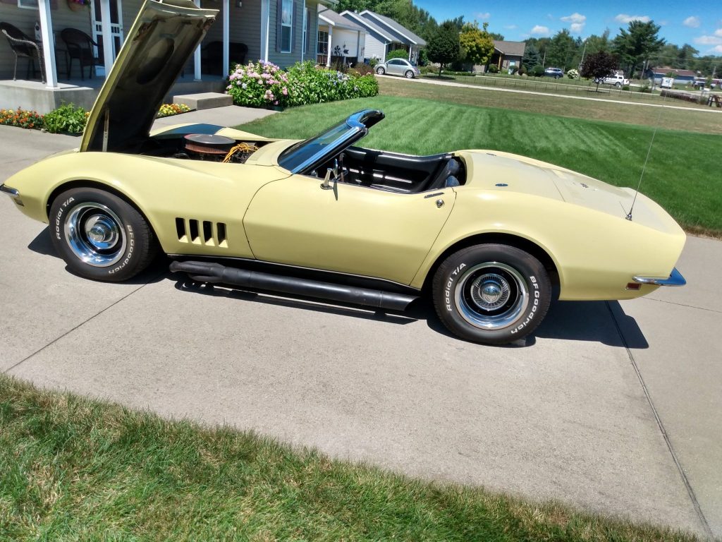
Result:
{"type": "MultiPolygon", "coordinates": [[[[78,143],[0,126],[0,181],[78,143]]],[[[690,238],[686,288],[559,303],[529,345],[492,348],[450,337],[426,304],[383,315],[196,288],[163,264],[131,283],[82,280],[45,226],[2,197],[0,370],[413,476],[719,536],[721,267],[721,242],[690,238]]]]}

